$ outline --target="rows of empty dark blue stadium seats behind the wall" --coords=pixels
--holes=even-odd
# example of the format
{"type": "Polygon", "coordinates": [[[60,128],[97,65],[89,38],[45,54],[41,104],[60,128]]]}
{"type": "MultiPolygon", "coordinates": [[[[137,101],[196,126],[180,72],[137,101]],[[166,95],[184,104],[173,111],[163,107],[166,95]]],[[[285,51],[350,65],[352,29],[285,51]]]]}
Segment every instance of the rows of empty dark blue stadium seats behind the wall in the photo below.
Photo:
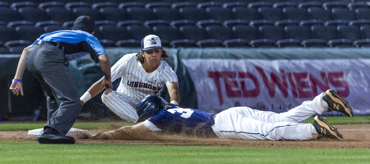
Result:
{"type": "Polygon", "coordinates": [[[356,0],[11,0],[0,2],[0,15],[4,44],[71,29],[88,15],[105,47],[135,47],[149,34],[172,47],[370,45],[370,3],[356,0]]]}

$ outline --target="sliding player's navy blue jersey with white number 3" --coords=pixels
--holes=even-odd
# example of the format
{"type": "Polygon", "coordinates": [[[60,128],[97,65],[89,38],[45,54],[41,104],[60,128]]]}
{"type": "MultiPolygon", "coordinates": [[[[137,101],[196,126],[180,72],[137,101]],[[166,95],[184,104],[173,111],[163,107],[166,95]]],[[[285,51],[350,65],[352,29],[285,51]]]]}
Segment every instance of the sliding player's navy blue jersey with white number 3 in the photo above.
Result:
{"type": "Polygon", "coordinates": [[[197,134],[212,131],[215,114],[198,111],[196,109],[171,106],[162,109],[157,115],[144,121],[144,125],[151,131],[166,131],[180,133],[184,130],[195,130],[197,134]]]}

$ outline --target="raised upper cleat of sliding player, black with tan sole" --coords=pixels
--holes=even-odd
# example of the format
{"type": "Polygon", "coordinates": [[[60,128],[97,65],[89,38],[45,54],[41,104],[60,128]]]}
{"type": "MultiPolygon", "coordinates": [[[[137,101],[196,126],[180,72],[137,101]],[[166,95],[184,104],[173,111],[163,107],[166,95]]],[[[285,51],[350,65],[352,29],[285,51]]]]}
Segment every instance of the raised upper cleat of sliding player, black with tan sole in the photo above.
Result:
{"type": "Polygon", "coordinates": [[[328,89],[323,96],[323,100],[329,105],[328,111],[337,111],[346,114],[348,117],[353,117],[351,106],[336,91],[328,89]]]}

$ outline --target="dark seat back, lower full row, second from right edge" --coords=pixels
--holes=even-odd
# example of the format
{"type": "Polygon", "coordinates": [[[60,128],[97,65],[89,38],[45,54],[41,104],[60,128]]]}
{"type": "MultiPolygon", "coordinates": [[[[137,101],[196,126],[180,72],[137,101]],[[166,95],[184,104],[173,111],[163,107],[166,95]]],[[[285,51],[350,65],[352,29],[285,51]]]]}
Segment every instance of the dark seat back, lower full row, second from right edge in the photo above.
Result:
{"type": "Polygon", "coordinates": [[[348,25],[339,25],[337,26],[338,37],[340,39],[349,39],[349,40],[359,40],[364,39],[361,35],[359,27],[348,26],[348,25]]]}

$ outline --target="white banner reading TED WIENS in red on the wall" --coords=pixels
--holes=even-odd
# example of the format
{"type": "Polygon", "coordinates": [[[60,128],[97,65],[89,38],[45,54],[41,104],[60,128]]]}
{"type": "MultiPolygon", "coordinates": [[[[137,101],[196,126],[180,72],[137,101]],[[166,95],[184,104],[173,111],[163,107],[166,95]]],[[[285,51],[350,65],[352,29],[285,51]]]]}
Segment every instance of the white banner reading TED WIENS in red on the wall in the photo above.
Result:
{"type": "MultiPolygon", "coordinates": [[[[182,59],[194,82],[200,110],[233,106],[285,112],[333,89],[354,115],[370,114],[370,59],[182,59]]],[[[342,115],[325,112],[324,115],[342,115]]]]}

